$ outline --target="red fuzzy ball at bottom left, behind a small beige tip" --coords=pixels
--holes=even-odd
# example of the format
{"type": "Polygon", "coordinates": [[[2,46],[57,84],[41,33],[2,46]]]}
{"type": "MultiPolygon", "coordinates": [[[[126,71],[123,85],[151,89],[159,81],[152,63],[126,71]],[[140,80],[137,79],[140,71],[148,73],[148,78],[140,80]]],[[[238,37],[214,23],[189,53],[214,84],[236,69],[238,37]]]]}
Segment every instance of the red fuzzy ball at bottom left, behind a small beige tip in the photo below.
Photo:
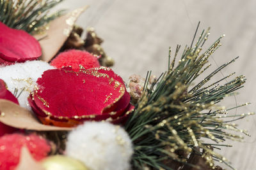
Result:
{"type": "Polygon", "coordinates": [[[35,160],[41,160],[51,151],[44,138],[36,135],[9,134],[0,138],[0,169],[15,169],[19,164],[20,150],[26,146],[35,160]]]}

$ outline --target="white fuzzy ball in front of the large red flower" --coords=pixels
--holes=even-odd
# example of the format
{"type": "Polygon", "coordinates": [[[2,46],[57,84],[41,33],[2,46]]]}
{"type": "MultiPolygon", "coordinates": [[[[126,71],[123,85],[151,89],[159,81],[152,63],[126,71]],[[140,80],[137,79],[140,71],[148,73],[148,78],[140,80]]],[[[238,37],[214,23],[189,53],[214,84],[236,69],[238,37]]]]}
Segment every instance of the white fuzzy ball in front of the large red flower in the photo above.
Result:
{"type": "Polygon", "coordinates": [[[92,170],[127,170],[132,142],[120,126],[108,122],[85,122],[70,132],[66,153],[92,170]]]}

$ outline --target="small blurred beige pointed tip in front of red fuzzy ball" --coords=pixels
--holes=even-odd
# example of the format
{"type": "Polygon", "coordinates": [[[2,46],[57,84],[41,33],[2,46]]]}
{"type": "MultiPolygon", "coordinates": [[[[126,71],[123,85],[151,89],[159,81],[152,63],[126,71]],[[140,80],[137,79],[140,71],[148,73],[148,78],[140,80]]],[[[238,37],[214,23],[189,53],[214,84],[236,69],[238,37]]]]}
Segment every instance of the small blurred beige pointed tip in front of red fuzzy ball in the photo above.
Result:
{"type": "Polygon", "coordinates": [[[28,148],[22,147],[20,151],[20,162],[15,170],[28,169],[44,170],[44,167],[42,167],[40,163],[36,162],[36,160],[33,159],[28,148]]]}

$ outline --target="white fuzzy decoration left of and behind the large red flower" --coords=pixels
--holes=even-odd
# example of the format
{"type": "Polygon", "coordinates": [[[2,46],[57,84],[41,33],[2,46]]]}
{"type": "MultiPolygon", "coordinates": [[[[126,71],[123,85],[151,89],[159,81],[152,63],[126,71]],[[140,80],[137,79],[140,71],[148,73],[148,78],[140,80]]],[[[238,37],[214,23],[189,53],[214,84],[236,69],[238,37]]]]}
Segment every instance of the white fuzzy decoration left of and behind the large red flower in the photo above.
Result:
{"type": "Polygon", "coordinates": [[[19,104],[31,110],[28,104],[29,92],[33,91],[36,80],[41,77],[42,73],[47,69],[54,69],[54,67],[42,60],[16,63],[11,66],[0,67],[0,78],[5,81],[8,90],[12,93],[15,88],[19,90],[18,94],[25,88],[18,98],[19,104]]]}

